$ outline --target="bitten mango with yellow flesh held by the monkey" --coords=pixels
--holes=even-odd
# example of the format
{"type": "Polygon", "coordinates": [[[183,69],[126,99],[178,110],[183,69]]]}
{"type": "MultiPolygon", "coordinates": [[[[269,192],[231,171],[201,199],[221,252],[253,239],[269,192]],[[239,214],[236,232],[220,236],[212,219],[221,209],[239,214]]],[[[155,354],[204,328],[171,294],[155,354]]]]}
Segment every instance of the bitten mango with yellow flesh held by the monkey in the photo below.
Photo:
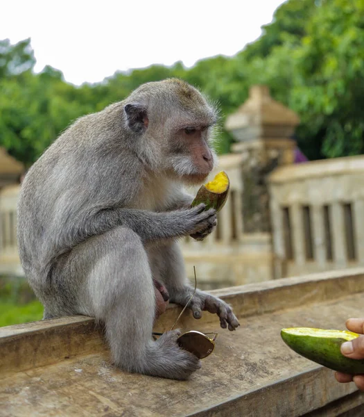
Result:
{"type": "Polygon", "coordinates": [[[229,195],[229,186],[229,177],[226,172],[221,171],[212,181],[200,187],[191,205],[198,206],[204,203],[206,210],[215,208],[216,211],[220,211],[229,195]]]}

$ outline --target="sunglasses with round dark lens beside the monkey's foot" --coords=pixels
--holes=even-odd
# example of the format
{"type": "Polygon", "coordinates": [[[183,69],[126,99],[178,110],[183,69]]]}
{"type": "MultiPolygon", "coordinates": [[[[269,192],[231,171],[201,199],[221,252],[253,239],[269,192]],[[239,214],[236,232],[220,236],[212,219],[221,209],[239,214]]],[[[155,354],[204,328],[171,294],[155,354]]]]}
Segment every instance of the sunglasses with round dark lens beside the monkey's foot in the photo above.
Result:
{"type": "MultiPolygon", "coordinates": [[[[196,288],[197,288],[197,278],[196,278],[196,268],[193,266],[193,272],[195,275],[195,289],[193,291],[193,294],[191,295],[189,301],[182,309],[180,315],[177,317],[175,322],[173,323],[173,326],[171,327],[171,330],[174,329],[175,325],[177,324],[178,320],[180,320],[180,317],[184,313],[184,310],[187,309],[187,306],[193,299],[193,296],[196,294],[196,288]]],[[[154,336],[162,336],[163,333],[153,333],[154,336]]],[[[214,351],[215,348],[215,341],[218,336],[218,332],[209,332],[209,333],[201,333],[197,332],[196,330],[190,330],[189,332],[181,334],[177,338],[177,344],[184,350],[187,350],[188,352],[193,353],[198,357],[198,359],[203,359],[205,357],[208,357],[209,354],[211,354],[214,351]],[[213,334],[214,336],[211,338],[207,336],[207,334],[213,334]]]]}

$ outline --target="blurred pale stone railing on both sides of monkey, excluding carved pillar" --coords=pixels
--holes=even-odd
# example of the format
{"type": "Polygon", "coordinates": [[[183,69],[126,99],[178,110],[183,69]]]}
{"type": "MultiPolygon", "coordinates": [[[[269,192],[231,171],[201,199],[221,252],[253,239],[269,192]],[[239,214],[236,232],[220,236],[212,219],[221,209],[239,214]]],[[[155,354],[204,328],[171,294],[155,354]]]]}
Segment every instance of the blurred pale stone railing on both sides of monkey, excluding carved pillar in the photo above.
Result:
{"type": "MultiPolygon", "coordinates": [[[[182,240],[190,279],[193,265],[205,289],[364,266],[364,156],[276,168],[268,179],[272,235],[243,230],[242,158],[220,157],[210,176],[225,170],[230,179],[229,199],[218,213],[216,230],[202,242],[182,240]]],[[[0,191],[0,274],[22,275],[16,242],[18,194],[19,186],[0,191]]]]}

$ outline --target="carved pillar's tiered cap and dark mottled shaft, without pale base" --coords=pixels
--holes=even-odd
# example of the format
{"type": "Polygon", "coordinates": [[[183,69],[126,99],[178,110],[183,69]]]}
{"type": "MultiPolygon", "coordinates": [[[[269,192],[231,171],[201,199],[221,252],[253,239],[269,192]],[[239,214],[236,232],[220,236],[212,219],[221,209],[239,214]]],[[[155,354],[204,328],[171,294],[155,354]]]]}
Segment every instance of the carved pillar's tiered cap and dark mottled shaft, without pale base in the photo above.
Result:
{"type": "Polygon", "coordinates": [[[227,117],[234,136],[232,150],[243,154],[244,233],[270,233],[266,177],[278,165],[294,162],[295,112],[270,97],[266,85],[252,85],[248,100],[227,117]]]}

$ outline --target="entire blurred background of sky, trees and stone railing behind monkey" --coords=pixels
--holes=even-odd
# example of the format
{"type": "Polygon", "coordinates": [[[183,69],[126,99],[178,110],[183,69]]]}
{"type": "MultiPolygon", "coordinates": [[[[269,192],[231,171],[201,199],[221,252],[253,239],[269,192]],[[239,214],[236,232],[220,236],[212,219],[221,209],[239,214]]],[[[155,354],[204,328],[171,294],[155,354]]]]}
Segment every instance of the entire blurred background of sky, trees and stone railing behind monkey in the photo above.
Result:
{"type": "Polygon", "coordinates": [[[364,265],[363,0],[1,9],[0,326],[42,318],[17,255],[28,167],[80,115],[172,76],[220,107],[231,180],[214,234],[182,243],[200,288],[364,265]]]}

